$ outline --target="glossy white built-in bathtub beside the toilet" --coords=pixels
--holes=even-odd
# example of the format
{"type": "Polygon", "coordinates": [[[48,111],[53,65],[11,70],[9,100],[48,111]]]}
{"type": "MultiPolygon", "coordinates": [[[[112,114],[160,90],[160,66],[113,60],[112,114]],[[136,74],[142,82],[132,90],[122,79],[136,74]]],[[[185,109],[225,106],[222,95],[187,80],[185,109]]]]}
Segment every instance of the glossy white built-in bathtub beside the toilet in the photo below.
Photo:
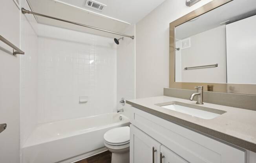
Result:
{"type": "Polygon", "coordinates": [[[106,150],[106,131],[129,124],[129,119],[119,113],[40,124],[22,147],[22,161],[71,163],[86,158],[106,150]]]}

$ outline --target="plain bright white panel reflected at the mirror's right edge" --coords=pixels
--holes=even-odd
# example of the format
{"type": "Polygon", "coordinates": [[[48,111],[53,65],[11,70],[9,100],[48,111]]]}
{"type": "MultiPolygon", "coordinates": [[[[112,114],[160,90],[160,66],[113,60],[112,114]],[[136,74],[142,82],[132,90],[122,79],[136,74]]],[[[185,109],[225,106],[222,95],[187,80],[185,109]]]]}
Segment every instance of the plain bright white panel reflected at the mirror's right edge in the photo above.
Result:
{"type": "Polygon", "coordinates": [[[227,82],[256,83],[256,16],[227,25],[227,82]]]}

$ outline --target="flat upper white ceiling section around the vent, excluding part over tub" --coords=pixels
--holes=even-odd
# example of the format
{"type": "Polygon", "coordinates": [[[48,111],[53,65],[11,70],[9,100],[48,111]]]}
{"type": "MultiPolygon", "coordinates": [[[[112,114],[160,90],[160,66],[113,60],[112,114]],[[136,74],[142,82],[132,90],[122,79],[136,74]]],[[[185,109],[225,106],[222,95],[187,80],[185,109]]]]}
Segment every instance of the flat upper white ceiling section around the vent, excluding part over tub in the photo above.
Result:
{"type": "Polygon", "coordinates": [[[95,0],[107,5],[102,12],[85,7],[86,0],[59,1],[135,24],[165,0],[95,0]]]}

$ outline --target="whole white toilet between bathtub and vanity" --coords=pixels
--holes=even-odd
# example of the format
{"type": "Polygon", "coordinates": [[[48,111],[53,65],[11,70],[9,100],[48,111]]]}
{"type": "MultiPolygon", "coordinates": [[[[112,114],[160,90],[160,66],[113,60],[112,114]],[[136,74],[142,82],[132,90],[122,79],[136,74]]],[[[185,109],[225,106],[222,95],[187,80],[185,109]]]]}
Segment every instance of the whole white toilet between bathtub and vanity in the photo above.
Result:
{"type": "Polygon", "coordinates": [[[112,152],[111,163],[130,162],[130,127],[117,127],[104,134],[104,145],[112,152]]]}

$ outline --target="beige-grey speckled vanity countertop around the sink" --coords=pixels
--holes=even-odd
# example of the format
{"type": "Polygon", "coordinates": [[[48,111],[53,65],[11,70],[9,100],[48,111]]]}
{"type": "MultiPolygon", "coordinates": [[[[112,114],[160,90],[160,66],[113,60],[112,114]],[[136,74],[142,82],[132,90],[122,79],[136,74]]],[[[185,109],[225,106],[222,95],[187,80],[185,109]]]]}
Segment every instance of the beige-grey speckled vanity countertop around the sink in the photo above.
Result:
{"type": "Polygon", "coordinates": [[[201,106],[226,111],[214,119],[205,120],[155,105],[170,101],[196,105],[195,101],[169,96],[139,98],[127,100],[126,103],[159,118],[256,152],[256,111],[204,103],[201,106]]]}

